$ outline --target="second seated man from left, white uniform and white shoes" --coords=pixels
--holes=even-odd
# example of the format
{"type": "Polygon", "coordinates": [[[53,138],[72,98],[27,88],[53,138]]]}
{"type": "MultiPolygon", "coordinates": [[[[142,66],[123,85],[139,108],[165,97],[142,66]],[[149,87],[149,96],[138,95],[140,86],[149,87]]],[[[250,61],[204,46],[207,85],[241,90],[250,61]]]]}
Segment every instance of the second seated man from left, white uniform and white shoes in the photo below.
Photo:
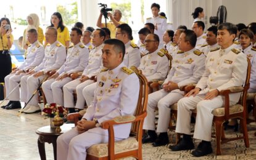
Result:
{"type": "MultiPolygon", "coordinates": [[[[48,71],[56,71],[62,66],[66,58],[66,49],[59,41],[57,41],[56,28],[49,27],[46,30],[46,41],[48,44],[44,50],[44,60],[33,70],[29,71],[26,76],[21,79],[21,101],[27,102],[38,88],[41,81],[46,77],[48,71]]],[[[24,113],[34,113],[39,111],[38,97],[33,98],[25,108],[24,113]]]]}

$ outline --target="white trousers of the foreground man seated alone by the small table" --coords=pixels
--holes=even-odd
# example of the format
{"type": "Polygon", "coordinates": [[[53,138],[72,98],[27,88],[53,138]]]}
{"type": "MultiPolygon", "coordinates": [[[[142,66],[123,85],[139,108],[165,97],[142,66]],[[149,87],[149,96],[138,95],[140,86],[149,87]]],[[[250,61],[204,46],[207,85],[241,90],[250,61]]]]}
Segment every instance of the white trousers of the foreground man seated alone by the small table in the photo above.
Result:
{"type": "MultiPolygon", "coordinates": [[[[87,148],[97,143],[109,142],[107,135],[90,132],[94,129],[79,134],[75,127],[60,135],[57,138],[57,160],[85,160],[87,148]]],[[[115,140],[122,139],[115,138],[115,140]]]]}

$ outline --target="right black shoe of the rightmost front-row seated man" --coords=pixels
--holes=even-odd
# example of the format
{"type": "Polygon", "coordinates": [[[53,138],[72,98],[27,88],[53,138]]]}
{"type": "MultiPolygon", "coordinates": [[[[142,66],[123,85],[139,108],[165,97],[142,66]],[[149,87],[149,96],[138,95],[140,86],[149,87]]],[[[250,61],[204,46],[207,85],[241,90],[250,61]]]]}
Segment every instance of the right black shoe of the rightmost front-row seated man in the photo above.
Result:
{"type": "Polygon", "coordinates": [[[196,150],[191,152],[191,154],[196,157],[205,156],[210,153],[212,153],[212,145],[210,142],[200,142],[196,150]]]}

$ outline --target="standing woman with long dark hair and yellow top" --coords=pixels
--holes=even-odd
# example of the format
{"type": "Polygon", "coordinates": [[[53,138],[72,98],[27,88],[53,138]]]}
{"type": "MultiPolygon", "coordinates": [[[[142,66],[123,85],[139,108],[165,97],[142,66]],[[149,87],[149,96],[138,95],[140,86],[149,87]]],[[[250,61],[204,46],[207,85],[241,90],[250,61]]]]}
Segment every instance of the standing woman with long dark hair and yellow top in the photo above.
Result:
{"type": "MultiPolygon", "coordinates": [[[[57,41],[62,43],[66,48],[69,47],[70,36],[67,26],[64,26],[62,16],[59,12],[54,12],[51,17],[51,26],[57,29],[57,41]]],[[[47,44],[47,43],[46,43],[47,44]]]]}

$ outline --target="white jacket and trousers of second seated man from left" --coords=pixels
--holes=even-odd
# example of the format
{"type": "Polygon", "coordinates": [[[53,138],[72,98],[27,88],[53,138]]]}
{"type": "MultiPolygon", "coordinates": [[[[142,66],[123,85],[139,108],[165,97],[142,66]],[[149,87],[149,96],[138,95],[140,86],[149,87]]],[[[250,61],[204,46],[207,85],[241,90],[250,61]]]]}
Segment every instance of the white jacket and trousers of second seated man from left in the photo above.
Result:
{"type": "MultiPolygon", "coordinates": [[[[66,49],[59,41],[53,44],[47,44],[44,49],[44,60],[36,68],[33,69],[35,72],[58,70],[65,62],[66,49]]],[[[33,95],[33,92],[38,88],[40,82],[44,79],[46,74],[35,78],[33,75],[23,76],[21,79],[21,101],[27,102],[28,99],[33,95]]],[[[38,97],[34,96],[28,105],[38,106],[38,97]]]]}

